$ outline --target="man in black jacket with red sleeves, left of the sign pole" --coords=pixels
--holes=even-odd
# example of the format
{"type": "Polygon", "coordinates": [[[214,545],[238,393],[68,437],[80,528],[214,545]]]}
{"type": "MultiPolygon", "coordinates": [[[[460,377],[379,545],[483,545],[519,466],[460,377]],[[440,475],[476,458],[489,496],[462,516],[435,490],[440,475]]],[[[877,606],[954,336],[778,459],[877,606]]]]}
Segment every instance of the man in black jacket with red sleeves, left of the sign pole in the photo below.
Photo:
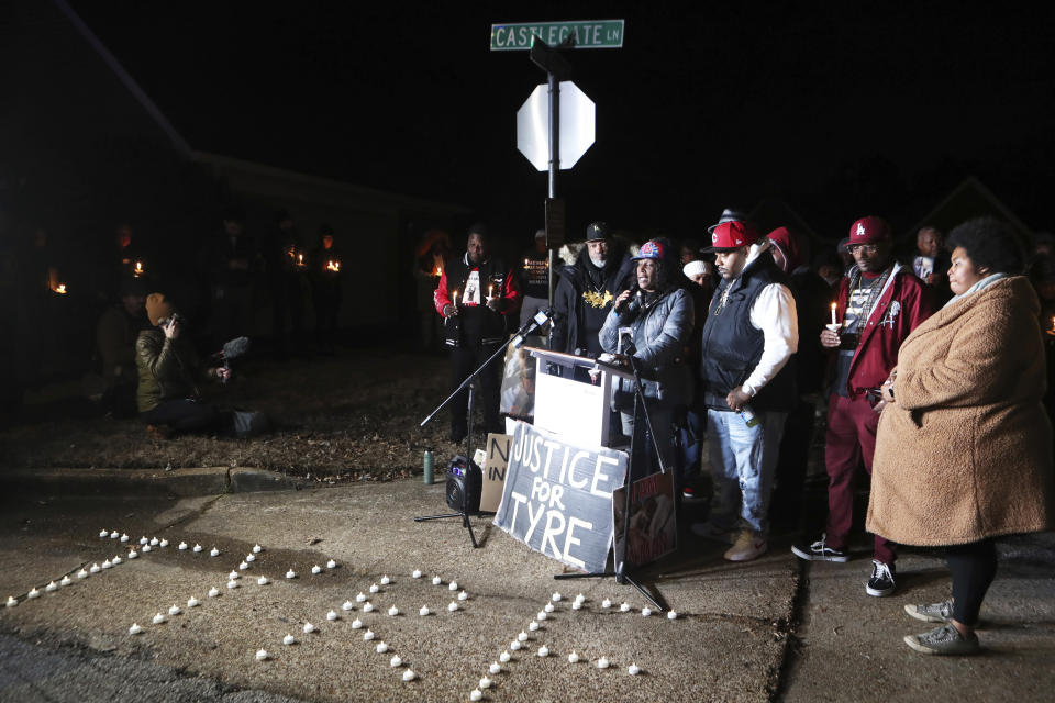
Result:
{"type": "MultiPolygon", "coordinates": [[[[473,225],[466,252],[452,258],[434,294],[436,312],[444,317],[444,344],[451,349],[452,390],[487,361],[509,337],[508,320],[515,322],[521,292],[517,276],[487,249],[487,228],[473,225]]],[[[502,370],[496,359],[480,372],[480,395],[487,432],[503,432],[499,417],[502,370]]],[[[451,402],[451,442],[468,433],[468,392],[451,402]]]]}

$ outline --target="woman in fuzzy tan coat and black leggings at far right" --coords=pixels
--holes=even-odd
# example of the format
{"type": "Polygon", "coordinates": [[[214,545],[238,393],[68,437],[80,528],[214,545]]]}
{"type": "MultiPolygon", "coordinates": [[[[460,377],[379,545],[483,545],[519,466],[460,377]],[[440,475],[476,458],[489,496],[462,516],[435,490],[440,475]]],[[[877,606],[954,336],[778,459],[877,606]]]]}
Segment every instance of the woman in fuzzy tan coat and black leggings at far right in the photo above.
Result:
{"type": "Polygon", "coordinates": [[[953,598],[906,612],[941,623],[909,635],[918,651],[978,650],[974,627],[997,571],[993,539],[1053,524],[1052,426],[1040,305],[1024,250],[995,220],[953,230],[955,297],[901,345],[882,386],[868,532],[944,546],[953,598]]]}

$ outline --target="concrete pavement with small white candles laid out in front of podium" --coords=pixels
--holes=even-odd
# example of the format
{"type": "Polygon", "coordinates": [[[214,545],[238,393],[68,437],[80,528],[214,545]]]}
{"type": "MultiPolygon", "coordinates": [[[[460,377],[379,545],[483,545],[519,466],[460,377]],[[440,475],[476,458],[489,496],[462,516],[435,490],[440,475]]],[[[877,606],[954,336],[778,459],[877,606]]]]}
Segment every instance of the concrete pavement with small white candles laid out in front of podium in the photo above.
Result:
{"type": "MultiPolygon", "coordinates": [[[[521,631],[529,635],[525,649],[510,651],[512,660],[491,677],[485,700],[914,701],[955,691],[965,701],[1033,701],[1050,698],[1055,689],[1051,533],[1001,543],[1000,572],[979,632],[986,651],[945,659],[919,655],[901,641],[906,634],[929,628],[909,618],[903,605],[948,594],[943,561],[930,553],[906,550],[899,591],[874,599],[864,591],[870,563],[865,553],[846,565],[807,563],[789,551],[795,535],[777,534],[762,559],[732,565],[721,559],[721,545],[686,537],[676,558],[636,574],[679,612],[670,622],[642,617],[644,599],[613,579],[555,581],[559,563],[491,527],[490,518],[473,521],[480,549],[470,547],[457,520],[413,522],[418,515],[446,512],[443,484],[407,480],[243,492],[251,484],[232,480],[235,470],[220,468],[203,473],[211,478],[193,490],[199,479],[189,475],[148,471],[126,477],[125,492],[149,488],[135,495],[111,487],[78,501],[60,498],[73,492],[65,479],[75,480],[75,472],[88,477],[86,471],[97,470],[45,473],[48,482],[36,486],[33,502],[12,503],[4,511],[0,598],[112,557],[120,548],[98,537],[101,528],[124,531],[134,542],[157,535],[173,544],[0,611],[0,628],[24,641],[59,648],[77,644],[93,656],[147,657],[223,687],[308,701],[468,700],[521,631]],[[158,490],[168,481],[182,488],[158,490]],[[210,494],[208,486],[221,489],[210,494]],[[173,498],[181,491],[198,496],[173,498]],[[181,539],[200,543],[206,553],[176,550],[181,539]],[[264,553],[242,572],[240,588],[229,591],[227,572],[237,571],[257,543],[264,553]],[[220,557],[206,556],[212,546],[220,557]],[[327,570],[331,557],[338,568],[327,570]],[[322,573],[312,576],[316,563],[322,573]],[[290,568],[298,577],[287,580],[290,568]],[[440,574],[443,583],[412,579],[414,569],[426,577],[440,574]],[[271,582],[258,585],[262,574],[271,582]],[[385,574],[392,583],[369,596],[379,612],[363,613],[356,593],[368,593],[385,574]],[[469,594],[456,613],[446,610],[456,598],[446,588],[451,580],[469,594]],[[222,595],[207,599],[210,587],[222,595]],[[554,591],[565,599],[538,631],[529,631],[554,591]],[[573,611],[570,599],[579,592],[586,605],[573,611]],[[203,601],[201,606],[165,625],[149,624],[156,612],[182,605],[191,594],[203,601]],[[604,599],[614,607],[602,607],[604,599]],[[353,601],[353,611],[341,610],[346,600],[353,601]],[[622,602],[631,612],[619,612],[622,602]],[[393,604],[401,614],[389,617],[386,611],[393,604]],[[422,605],[433,614],[418,615],[422,605]],[[325,618],[331,609],[341,614],[332,623],[325,618]],[[355,617],[413,668],[414,682],[402,682],[406,667],[389,666],[391,652],[377,654],[362,640],[362,631],[351,627],[355,617]],[[304,635],[309,621],[319,632],[304,635]],[[130,636],[132,622],[147,632],[130,636]],[[299,644],[284,647],[287,633],[299,644]],[[542,645],[551,657],[536,656],[542,645]],[[271,654],[266,662],[253,657],[260,647],[271,654]],[[593,662],[608,657],[612,667],[570,665],[571,650],[593,662]],[[645,674],[629,677],[630,663],[645,674]]],[[[259,477],[259,484],[273,486],[274,478],[259,477]]],[[[99,488],[110,480],[108,472],[96,479],[99,488]]],[[[822,495],[810,494],[803,502],[806,512],[822,509],[822,495]]],[[[46,690],[43,681],[37,683],[46,690]]],[[[14,699],[0,691],[0,700],[14,699]]]]}

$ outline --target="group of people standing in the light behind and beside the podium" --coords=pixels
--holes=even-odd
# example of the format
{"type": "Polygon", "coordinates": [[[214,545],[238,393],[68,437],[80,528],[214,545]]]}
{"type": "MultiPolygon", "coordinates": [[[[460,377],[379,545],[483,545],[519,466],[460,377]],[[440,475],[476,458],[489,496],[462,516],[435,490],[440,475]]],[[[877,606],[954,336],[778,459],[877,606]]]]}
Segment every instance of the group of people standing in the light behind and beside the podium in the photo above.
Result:
{"type": "MultiPolygon", "coordinates": [[[[708,232],[711,246],[699,254],[713,255],[717,286],[711,263],[691,250],[679,260],[674,243],[659,238],[631,256],[604,223],[591,224],[560,272],[551,348],[633,356],[659,453],[649,451],[632,384],[621,381],[612,409],[634,438],[635,476],[662,459],[679,469],[688,494],[691,448],[706,419],[713,494],[707,521],[692,531],[728,545],[731,561],[767,551],[778,464],[797,451],[786,428],[812,426],[802,392],[820,390],[829,510],[823,533],[795,544],[793,554],[849,559],[854,479],[864,467],[874,535],[866,593],[895,592],[897,545],[945,547],[953,596],[907,606],[939,627],[906,641],[926,654],[976,651],[978,610],[996,573],[993,539],[1055,524],[1044,331],[1023,276],[1024,244],[1008,225],[975,220],[951,233],[947,256],[936,233],[921,232],[919,256],[903,266],[887,222],[865,216],[851,225],[852,264],[830,289],[804,275],[802,243],[785,227],[762,235],[728,210],[708,232]],[[826,375],[817,368],[824,362],[826,375]]],[[[457,386],[506,341],[522,291],[476,227],[434,301],[457,386]]],[[[480,380],[487,429],[501,432],[497,369],[480,380]]],[[[452,411],[452,439],[465,431],[463,401],[452,411]]]]}

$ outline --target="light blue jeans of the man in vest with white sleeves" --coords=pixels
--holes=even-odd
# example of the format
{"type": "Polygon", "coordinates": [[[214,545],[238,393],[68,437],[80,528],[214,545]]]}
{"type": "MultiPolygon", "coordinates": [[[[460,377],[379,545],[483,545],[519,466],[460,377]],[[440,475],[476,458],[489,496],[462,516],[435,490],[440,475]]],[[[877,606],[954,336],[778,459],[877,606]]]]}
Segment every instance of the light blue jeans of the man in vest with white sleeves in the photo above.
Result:
{"type": "Polygon", "coordinates": [[[758,424],[748,427],[737,413],[707,411],[714,480],[710,522],[722,529],[745,527],[766,535],[773,479],[788,413],[765,412],[755,416],[758,424]]]}

